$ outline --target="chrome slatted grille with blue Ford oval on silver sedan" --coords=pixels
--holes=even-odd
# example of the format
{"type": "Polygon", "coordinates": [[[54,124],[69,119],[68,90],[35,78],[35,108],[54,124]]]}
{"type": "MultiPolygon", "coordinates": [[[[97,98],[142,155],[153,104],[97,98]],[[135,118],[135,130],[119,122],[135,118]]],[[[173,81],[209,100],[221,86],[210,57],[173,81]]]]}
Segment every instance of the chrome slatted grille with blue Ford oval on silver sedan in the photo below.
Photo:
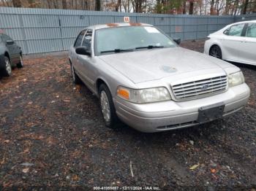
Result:
{"type": "Polygon", "coordinates": [[[172,88],[176,100],[178,101],[203,98],[225,91],[227,89],[227,76],[186,82],[179,85],[173,85],[172,88]]]}

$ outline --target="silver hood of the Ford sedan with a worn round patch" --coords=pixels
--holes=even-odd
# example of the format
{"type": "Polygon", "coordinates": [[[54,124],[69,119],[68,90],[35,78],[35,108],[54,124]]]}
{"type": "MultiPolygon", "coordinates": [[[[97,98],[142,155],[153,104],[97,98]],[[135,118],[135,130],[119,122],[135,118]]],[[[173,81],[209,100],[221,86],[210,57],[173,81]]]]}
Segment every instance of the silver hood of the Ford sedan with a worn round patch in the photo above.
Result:
{"type": "Polygon", "coordinates": [[[217,58],[181,47],[122,52],[100,55],[99,58],[135,84],[191,71],[223,71],[232,66],[217,58]]]}

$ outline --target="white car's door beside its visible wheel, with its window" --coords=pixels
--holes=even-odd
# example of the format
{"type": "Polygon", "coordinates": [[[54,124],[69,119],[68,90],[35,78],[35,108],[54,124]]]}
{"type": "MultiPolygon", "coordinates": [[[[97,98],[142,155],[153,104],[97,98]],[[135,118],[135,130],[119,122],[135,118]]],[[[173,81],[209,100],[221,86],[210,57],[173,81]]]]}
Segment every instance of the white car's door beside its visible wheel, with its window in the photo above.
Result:
{"type": "Polygon", "coordinates": [[[244,31],[244,23],[236,24],[227,28],[222,36],[222,52],[225,55],[225,60],[239,61],[241,44],[244,42],[244,37],[241,36],[244,31]]]}

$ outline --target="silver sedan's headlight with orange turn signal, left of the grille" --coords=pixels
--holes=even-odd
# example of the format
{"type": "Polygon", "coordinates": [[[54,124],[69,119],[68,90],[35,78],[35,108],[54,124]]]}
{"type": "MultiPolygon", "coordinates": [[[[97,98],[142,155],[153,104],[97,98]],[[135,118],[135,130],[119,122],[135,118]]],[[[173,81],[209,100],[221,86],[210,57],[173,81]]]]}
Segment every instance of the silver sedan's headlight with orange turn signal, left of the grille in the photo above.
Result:
{"type": "Polygon", "coordinates": [[[165,87],[134,90],[119,86],[116,90],[116,95],[136,104],[170,100],[170,94],[165,87]]]}

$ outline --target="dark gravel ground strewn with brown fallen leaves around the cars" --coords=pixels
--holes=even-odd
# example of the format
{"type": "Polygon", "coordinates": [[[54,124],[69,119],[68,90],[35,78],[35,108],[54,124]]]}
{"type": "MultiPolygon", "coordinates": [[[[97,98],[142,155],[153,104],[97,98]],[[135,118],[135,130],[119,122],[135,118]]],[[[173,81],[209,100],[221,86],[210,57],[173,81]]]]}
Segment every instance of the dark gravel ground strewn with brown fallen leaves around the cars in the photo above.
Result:
{"type": "MultiPolygon", "coordinates": [[[[181,46],[203,51],[203,41],[181,46]]],[[[97,98],[72,84],[66,53],[26,56],[24,63],[0,79],[0,190],[255,190],[255,67],[240,65],[252,90],[240,112],[193,128],[140,133],[105,128],[97,98]]]]}

